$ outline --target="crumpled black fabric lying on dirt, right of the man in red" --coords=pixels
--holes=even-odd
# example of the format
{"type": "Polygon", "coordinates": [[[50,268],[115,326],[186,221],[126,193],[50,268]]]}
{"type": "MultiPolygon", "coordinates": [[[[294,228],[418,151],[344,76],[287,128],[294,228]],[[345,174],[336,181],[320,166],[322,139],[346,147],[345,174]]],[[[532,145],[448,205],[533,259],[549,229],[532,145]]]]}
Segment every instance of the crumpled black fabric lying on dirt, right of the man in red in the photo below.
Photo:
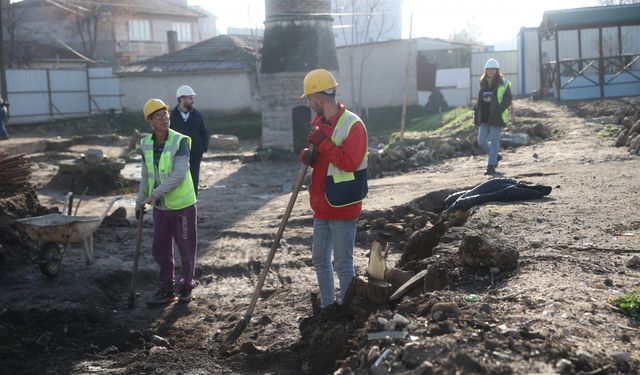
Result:
{"type": "Polygon", "coordinates": [[[551,193],[545,185],[527,185],[508,178],[493,178],[471,190],[463,190],[448,196],[444,203],[449,210],[467,210],[486,202],[537,199],[551,193]]]}

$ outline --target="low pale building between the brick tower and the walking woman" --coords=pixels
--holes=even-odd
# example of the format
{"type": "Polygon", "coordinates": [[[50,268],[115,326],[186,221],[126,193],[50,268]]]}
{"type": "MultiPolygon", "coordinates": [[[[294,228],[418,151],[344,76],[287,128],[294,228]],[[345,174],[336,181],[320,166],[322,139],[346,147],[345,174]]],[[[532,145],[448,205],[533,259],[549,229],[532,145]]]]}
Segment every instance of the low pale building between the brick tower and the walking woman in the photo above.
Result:
{"type": "Polygon", "coordinates": [[[365,109],[402,105],[408,62],[408,104],[425,105],[438,89],[449,106],[466,106],[471,100],[471,55],[477,50],[484,46],[434,38],[340,47],[340,100],[353,107],[360,98],[365,109]]]}

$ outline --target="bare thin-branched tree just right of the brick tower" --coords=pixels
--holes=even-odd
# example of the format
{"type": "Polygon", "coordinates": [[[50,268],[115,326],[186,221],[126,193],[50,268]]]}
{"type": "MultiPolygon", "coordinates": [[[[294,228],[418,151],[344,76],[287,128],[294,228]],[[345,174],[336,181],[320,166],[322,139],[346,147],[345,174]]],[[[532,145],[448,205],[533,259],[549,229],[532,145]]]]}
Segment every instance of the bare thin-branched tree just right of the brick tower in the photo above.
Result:
{"type": "Polygon", "coordinates": [[[334,0],[334,9],[338,13],[340,29],[347,46],[349,59],[349,83],[353,109],[362,112],[362,83],[367,60],[375,46],[373,43],[395,26],[396,20],[389,20],[385,0],[334,0]],[[351,22],[346,24],[346,22],[351,22]],[[356,77],[355,67],[358,66],[356,77]]]}

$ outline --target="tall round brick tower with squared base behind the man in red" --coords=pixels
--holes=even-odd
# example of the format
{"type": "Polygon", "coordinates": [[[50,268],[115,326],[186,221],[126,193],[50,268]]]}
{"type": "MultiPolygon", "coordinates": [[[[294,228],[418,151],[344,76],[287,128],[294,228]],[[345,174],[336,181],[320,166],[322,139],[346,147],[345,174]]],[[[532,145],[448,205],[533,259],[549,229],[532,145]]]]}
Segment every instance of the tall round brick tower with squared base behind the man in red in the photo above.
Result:
{"type": "Polygon", "coordinates": [[[293,109],[308,71],[338,69],[331,0],[266,0],[259,86],[262,145],[294,148],[293,109]]]}

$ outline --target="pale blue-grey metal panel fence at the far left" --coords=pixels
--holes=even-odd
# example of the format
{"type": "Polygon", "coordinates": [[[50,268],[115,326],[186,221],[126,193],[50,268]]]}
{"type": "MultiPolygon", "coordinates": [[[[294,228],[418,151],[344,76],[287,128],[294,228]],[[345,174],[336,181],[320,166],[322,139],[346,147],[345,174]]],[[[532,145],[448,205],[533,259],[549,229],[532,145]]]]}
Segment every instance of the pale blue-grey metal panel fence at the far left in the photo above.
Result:
{"type": "Polygon", "coordinates": [[[8,69],[6,75],[17,122],[122,109],[112,68],[8,69]]]}

